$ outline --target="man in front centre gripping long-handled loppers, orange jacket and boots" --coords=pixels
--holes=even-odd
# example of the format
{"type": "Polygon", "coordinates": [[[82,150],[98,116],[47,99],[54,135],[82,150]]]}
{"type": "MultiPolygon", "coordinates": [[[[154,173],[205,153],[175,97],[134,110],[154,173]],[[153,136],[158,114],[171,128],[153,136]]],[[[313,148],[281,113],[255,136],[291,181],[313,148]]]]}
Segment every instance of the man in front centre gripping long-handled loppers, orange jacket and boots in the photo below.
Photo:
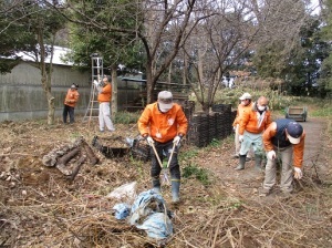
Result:
{"type": "MultiPolygon", "coordinates": [[[[172,179],[172,200],[179,202],[180,169],[177,159],[178,144],[187,134],[188,121],[180,105],[173,102],[173,94],[169,91],[162,91],[155,103],[148,104],[138,120],[138,131],[146,138],[151,146],[155,146],[157,154],[163,162],[164,154],[167,161],[176,144],[174,155],[169,164],[172,179]]],[[[152,153],[152,185],[156,193],[160,193],[159,175],[162,172],[157,157],[152,153]]]]}

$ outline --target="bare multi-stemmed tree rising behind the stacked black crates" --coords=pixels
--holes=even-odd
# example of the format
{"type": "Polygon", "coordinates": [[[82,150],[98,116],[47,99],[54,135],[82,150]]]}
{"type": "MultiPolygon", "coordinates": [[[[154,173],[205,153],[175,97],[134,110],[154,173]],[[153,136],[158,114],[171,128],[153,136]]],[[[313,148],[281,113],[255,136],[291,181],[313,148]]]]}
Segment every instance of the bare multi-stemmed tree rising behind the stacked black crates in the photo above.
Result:
{"type": "Polygon", "coordinates": [[[224,73],[247,51],[257,28],[247,17],[245,4],[218,1],[204,9],[205,21],[197,24],[184,51],[189,58],[190,83],[203,110],[208,112],[224,73]]]}

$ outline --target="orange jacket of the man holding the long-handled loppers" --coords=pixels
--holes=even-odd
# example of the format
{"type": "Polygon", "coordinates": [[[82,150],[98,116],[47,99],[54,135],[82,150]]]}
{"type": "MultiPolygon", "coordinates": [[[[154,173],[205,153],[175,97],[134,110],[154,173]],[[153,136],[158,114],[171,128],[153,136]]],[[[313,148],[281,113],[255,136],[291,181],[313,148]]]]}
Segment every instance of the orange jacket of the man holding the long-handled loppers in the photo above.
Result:
{"type": "Polygon", "coordinates": [[[178,134],[186,135],[188,130],[187,117],[177,103],[166,113],[158,110],[157,102],[148,104],[137,124],[142,136],[149,135],[160,143],[166,143],[178,134]]]}

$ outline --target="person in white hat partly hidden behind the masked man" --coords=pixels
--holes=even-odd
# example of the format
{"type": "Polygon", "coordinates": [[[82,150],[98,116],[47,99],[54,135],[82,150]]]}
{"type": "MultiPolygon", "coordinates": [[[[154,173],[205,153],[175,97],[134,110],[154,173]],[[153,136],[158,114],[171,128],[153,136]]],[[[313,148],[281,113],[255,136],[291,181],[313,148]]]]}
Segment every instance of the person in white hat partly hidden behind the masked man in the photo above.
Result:
{"type": "MultiPolygon", "coordinates": [[[[248,92],[243,93],[239,97],[239,100],[241,101],[241,103],[238,105],[237,116],[232,123],[232,127],[235,131],[235,146],[236,146],[236,153],[234,155],[234,158],[239,158],[239,153],[240,153],[241,144],[239,142],[239,125],[240,125],[240,120],[241,120],[242,113],[245,111],[251,111],[251,108],[252,108],[251,95],[248,92]]],[[[252,148],[247,153],[248,161],[251,159],[251,153],[252,153],[252,148]]]]}

